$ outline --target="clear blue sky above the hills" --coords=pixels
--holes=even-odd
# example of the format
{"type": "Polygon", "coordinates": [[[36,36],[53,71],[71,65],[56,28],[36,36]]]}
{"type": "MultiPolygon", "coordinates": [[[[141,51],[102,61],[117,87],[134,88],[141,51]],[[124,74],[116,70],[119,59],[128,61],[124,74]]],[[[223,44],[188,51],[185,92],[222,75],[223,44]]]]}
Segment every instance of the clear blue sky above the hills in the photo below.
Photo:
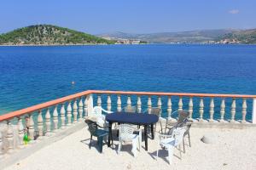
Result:
{"type": "Polygon", "coordinates": [[[6,0],[0,33],[53,24],[92,34],[256,28],[256,0],[6,0]]]}

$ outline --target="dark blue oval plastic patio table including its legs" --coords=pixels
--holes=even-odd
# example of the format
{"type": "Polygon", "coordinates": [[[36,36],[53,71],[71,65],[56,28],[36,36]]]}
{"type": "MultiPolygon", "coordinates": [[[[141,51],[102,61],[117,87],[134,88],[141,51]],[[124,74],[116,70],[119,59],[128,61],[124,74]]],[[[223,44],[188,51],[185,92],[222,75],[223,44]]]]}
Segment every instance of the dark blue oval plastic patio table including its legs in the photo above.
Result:
{"type": "Polygon", "coordinates": [[[148,126],[151,125],[151,136],[154,139],[154,123],[158,122],[159,117],[147,113],[127,113],[114,112],[106,116],[106,121],[109,123],[108,127],[108,147],[110,147],[110,137],[112,138],[112,124],[129,123],[134,125],[141,125],[144,127],[145,150],[148,150],[148,126]]]}

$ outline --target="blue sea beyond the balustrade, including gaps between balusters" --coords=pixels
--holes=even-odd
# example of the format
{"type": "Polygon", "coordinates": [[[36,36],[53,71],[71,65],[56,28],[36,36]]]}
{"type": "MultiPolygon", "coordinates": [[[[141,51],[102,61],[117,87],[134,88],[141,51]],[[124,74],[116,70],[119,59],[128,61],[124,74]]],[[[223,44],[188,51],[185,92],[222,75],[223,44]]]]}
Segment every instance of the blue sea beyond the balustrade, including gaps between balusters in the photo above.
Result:
{"type": "Polygon", "coordinates": [[[87,89],[256,94],[256,46],[0,47],[0,114],[87,89]]]}

